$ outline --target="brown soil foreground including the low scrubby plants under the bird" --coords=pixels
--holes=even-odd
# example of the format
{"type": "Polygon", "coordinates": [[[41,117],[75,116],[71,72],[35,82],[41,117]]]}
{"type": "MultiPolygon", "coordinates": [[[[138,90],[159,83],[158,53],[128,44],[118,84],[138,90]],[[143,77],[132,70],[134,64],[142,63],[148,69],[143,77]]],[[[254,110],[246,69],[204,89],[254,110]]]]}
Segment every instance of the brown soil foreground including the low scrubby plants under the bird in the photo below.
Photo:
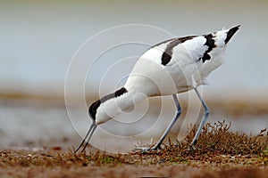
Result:
{"type": "Polygon", "coordinates": [[[196,149],[188,148],[192,131],[146,153],[0,150],[0,177],[268,177],[268,132],[248,136],[229,127],[207,124],[196,149]]]}

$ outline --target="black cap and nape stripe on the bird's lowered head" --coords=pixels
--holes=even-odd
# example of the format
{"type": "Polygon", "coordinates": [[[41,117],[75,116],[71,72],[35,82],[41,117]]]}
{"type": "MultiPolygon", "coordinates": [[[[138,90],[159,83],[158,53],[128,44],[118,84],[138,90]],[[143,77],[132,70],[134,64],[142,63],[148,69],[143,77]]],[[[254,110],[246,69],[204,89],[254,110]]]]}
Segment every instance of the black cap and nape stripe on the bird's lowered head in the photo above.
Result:
{"type": "Polygon", "coordinates": [[[122,87],[120,90],[117,90],[115,93],[108,94],[108,95],[104,96],[103,98],[101,98],[100,100],[93,102],[88,109],[89,115],[95,120],[96,119],[96,109],[98,109],[98,107],[100,106],[101,103],[108,101],[110,99],[119,97],[123,93],[128,93],[128,90],[125,87],[122,87]]]}

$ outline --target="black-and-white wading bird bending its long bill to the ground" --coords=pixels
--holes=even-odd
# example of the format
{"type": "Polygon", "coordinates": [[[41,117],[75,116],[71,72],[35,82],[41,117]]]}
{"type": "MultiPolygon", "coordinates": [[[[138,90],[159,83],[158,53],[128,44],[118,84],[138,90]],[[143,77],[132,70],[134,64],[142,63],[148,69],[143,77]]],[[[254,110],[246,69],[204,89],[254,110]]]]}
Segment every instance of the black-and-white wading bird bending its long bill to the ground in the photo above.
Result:
{"type": "MultiPolygon", "coordinates": [[[[126,84],[121,89],[91,104],[88,112],[93,123],[90,125],[85,139],[74,153],[80,150],[87,138],[89,142],[97,125],[116,117],[122,110],[130,108],[146,97],[172,95],[177,112],[171,124],[154,147],[140,148],[142,151],[161,149],[164,138],[180,117],[181,108],[177,93],[192,89],[197,93],[204,108],[204,117],[190,144],[190,146],[194,146],[209,115],[209,109],[198,92],[197,86],[205,85],[205,77],[222,65],[226,46],[239,27],[222,29],[201,36],[173,38],[149,48],[138,59],[126,84]]],[[[81,152],[86,149],[88,142],[81,152]]]]}

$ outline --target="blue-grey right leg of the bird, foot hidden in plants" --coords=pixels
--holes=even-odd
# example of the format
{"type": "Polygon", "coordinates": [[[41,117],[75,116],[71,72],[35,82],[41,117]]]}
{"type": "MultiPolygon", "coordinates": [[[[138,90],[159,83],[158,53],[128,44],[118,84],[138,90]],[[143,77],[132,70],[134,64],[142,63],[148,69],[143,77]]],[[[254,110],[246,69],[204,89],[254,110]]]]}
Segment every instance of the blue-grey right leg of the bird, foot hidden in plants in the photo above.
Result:
{"type": "Polygon", "coordinates": [[[201,94],[198,92],[197,88],[194,88],[195,92],[197,93],[197,97],[199,98],[199,100],[202,103],[202,106],[204,108],[204,117],[202,118],[202,121],[197,129],[197,134],[195,135],[195,138],[193,139],[193,141],[191,142],[190,146],[194,146],[195,144],[197,144],[197,139],[205,125],[206,119],[209,115],[209,109],[207,107],[207,105],[205,104],[205,101],[202,99],[201,94]]]}

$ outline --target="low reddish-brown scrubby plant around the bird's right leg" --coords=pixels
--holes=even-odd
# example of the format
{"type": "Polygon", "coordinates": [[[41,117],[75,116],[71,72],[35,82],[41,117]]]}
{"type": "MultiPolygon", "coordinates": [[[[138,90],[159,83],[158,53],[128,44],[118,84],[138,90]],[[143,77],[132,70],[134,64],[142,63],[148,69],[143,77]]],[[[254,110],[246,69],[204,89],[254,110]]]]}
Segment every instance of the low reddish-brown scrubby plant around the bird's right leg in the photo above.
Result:
{"type": "MultiPolygon", "coordinates": [[[[266,128],[255,136],[230,132],[230,125],[223,120],[214,124],[206,124],[197,142],[197,152],[205,154],[214,152],[217,154],[247,155],[261,153],[267,144],[264,142],[266,128]]],[[[180,148],[186,149],[191,142],[197,127],[188,134],[186,141],[180,143],[180,148]],[[182,145],[182,146],[181,146],[182,145]]],[[[266,138],[267,140],[267,138],[266,138]]]]}

